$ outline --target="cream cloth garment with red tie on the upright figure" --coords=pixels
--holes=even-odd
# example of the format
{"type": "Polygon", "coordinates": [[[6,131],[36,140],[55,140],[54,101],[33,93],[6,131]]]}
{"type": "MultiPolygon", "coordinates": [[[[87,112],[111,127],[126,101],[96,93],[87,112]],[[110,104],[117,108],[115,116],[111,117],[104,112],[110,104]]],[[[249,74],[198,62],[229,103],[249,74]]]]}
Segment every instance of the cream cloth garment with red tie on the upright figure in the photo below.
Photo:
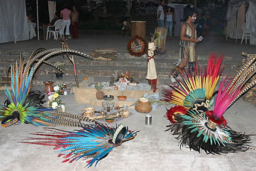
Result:
{"type": "MultiPolygon", "coordinates": [[[[154,56],[155,51],[155,43],[148,43],[148,58],[154,56]]],[[[155,69],[155,60],[151,58],[148,61],[148,73],[146,75],[146,79],[157,79],[157,69],[155,69]]]]}

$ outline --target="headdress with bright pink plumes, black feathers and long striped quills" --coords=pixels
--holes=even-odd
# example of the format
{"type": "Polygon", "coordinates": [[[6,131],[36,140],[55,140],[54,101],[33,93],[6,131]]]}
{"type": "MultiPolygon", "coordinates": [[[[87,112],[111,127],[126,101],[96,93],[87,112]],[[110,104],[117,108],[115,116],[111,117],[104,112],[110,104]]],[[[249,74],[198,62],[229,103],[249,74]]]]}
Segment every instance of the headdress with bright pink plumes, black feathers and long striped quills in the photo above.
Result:
{"type": "MultiPolygon", "coordinates": [[[[205,82],[208,80],[211,85],[214,85],[215,81],[211,78],[219,79],[219,76],[217,76],[219,74],[216,75],[217,70],[210,70],[213,76],[204,76],[205,82]]],[[[180,146],[189,146],[190,149],[198,152],[203,149],[207,153],[222,154],[255,149],[254,146],[249,145],[252,134],[248,135],[234,131],[226,125],[227,122],[223,117],[228,107],[233,105],[243,93],[256,84],[256,79],[246,84],[255,73],[256,57],[253,57],[237,72],[231,81],[226,82],[226,75],[220,82],[213,111],[198,112],[198,110],[190,108],[186,112],[183,106],[170,108],[167,117],[173,124],[167,125],[169,129],[166,131],[170,130],[173,134],[178,135],[180,146]]],[[[208,87],[207,84],[205,83],[205,87],[208,87]]]]}

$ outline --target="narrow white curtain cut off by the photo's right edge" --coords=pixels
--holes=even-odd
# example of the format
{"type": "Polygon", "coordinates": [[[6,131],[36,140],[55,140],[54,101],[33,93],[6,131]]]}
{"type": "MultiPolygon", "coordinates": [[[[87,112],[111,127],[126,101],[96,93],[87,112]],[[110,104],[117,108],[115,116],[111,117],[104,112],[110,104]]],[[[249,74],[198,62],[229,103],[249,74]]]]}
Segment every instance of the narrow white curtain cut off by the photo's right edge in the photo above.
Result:
{"type": "Polygon", "coordinates": [[[256,45],[256,2],[250,1],[246,12],[246,30],[251,31],[251,45],[256,45]]]}

